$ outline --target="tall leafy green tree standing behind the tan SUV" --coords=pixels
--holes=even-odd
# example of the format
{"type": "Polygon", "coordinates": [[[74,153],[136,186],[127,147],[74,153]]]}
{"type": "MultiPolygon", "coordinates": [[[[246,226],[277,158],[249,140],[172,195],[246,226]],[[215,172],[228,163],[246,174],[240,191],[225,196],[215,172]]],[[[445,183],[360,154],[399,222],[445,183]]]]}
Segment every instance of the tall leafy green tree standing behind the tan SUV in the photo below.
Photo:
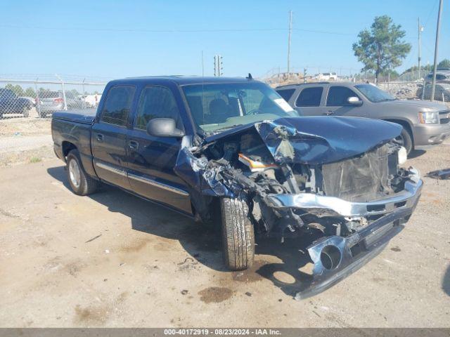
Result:
{"type": "Polygon", "coordinates": [[[394,25],[389,16],[376,16],[371,29],[359,32],[359,41],[353,44],[354,55],[364,64],[361,72],[375,72],[378,81],[380,74],[401,65],[401,59],[411,51],[411,44],[403,41],[404,37],[401,25],[394,25]]]}

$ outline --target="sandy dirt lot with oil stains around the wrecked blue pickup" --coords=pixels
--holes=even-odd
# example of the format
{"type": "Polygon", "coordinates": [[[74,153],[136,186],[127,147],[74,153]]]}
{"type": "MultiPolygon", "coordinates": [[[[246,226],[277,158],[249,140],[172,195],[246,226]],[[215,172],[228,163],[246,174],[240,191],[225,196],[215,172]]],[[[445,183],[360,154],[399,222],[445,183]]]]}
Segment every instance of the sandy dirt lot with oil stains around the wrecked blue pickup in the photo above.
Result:
{"type": "MultiPolygon", "coordinates": [[[[39,123],[3,124],[0,148],[26,137],[15,132],[48,135],[39,123]]],[[[193,221],[110,187],[70,192],[47,141],[45,153],[25,150],[37,159],[0,161],[0,326],[450,327],[450,180],[424,178],[416,213],[380,256],[297,301],[297,242],[259,241],[252,270],[227,272],[219,237],[193,221]]],[[[448,168],[450,143],[409,163],[448,168]]]]}

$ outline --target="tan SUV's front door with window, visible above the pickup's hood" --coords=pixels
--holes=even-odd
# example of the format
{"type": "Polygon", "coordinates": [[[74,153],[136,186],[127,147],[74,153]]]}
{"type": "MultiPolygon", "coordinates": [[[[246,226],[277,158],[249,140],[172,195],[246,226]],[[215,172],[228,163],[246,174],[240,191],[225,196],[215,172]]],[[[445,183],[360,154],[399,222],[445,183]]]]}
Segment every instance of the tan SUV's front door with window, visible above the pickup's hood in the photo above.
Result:
{"type": "Polygon", "coordinates": [[[326,116],[352,116],[368,117],[367,109],[362,105],[356,106],[348,103],[348,98],[357,97],[360,101],[361,95],[347,86],[333,85],[328,87],[326,95],[326,105],[321,111],[326,116]]]}

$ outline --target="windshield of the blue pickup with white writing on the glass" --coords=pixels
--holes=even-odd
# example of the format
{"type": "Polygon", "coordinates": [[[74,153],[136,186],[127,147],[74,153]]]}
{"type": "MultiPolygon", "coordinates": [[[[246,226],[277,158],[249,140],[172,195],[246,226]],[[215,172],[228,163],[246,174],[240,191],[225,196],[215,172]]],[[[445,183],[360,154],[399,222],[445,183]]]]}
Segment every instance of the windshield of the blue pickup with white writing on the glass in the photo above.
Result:
{"type": "Polygon", "coordinates": [[[195,124],[206,133],[265,119],[298,117],[276,91],[265,84],[219,83],[183,86],[195,124]]]}

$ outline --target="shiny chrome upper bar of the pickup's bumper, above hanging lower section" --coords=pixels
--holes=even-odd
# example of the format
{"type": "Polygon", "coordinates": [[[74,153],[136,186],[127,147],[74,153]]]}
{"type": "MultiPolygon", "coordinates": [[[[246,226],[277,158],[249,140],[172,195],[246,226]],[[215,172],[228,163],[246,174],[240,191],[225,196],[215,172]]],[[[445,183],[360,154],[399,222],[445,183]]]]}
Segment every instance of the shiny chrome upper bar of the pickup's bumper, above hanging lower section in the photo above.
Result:
{"type": "Polygon", "coordinates": [[[276,209],[307,209],[309,213],[338,215],[346,217],[376,216],[380,214],[410,209],[420,197],[423,182],[416,169],[409,169],[411,175],[405,188],[392,197],[370,202],[352,202],[337,197],[326,197],[314,193],[268,194],[266,204],[276,209]]]}

